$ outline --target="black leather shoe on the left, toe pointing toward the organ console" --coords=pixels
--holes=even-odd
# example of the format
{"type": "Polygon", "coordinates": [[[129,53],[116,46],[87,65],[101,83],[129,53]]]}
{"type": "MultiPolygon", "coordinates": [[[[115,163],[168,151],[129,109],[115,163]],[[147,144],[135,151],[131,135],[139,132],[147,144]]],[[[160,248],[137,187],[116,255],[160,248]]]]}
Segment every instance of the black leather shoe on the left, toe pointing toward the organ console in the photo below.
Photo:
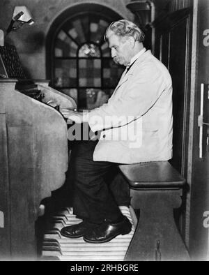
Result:
{"type": "Polygon", "coordinates": [[[68,238],[79,238],[83,237],[88,230],[91,230],[95,225],[93,223],[87,223],[86,221],[82,221],[82,223],[78,223],[77,225],[65,226],[61,229],[61,235],[68,238]]]}

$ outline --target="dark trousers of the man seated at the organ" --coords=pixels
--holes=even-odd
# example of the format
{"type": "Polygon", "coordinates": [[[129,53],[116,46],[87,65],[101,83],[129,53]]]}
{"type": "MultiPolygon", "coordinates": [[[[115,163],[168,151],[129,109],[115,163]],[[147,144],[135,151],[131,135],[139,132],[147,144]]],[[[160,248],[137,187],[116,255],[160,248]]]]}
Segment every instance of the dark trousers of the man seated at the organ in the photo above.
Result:
{"type": "Polygon", "coordinates": [[[118,205],[130,204],[129,186],[118,163],[93,161],[98,141],[80,141],[72,147],[68,182],[73,184],[74,214],[92,223],[118,221],[118,205]]]}

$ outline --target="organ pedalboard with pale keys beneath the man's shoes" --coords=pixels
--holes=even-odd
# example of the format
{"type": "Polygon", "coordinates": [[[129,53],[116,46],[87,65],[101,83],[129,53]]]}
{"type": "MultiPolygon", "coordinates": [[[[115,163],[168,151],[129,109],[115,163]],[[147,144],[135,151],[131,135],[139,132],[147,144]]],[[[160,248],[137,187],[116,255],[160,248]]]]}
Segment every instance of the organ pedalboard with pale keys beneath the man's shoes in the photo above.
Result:
{"type": "Polygon", "coordinates": [[[132,207],[120,207],[123,215],[132,223],[127,235],[119,235],[104,244],[86,243],[83,238],[70,239],[61,236],[64,226],[74,225],[81,220],[72,214],[72,208],[66,208],[51,218],[42,243],[42,260],[68,261],[123,261],[137,223],[132,207]]]}

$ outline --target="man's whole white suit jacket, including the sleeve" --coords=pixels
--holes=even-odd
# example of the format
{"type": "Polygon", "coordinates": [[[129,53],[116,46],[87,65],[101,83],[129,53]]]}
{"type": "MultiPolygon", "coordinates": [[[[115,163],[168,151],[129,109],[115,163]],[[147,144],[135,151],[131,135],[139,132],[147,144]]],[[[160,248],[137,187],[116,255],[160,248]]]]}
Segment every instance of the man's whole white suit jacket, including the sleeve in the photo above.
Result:
{"type": "Polygon", "coordinates": [[[94,161],[139,163],[172,157],[172,82],[150,50],[123,73],[107,104],[88,112],[93,132],[102,130],[94,161]]]}

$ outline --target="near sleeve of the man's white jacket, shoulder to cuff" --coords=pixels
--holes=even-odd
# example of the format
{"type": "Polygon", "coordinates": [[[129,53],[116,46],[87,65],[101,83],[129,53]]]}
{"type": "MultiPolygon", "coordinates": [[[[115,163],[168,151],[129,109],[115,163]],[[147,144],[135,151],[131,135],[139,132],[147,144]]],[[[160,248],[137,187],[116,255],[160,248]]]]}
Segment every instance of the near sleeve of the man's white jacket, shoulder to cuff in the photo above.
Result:
{"type": "Polygon", "coordinates": [[[163,74],[151,62],[141,66],[137,73],[129,75],[124,84],[125,91],[121,92],[121,87],[116,91],[121,92],[120,96],[88,112],[88,124],[93,132],[123,126],[143,116],[166,87],[163,74]]]}

